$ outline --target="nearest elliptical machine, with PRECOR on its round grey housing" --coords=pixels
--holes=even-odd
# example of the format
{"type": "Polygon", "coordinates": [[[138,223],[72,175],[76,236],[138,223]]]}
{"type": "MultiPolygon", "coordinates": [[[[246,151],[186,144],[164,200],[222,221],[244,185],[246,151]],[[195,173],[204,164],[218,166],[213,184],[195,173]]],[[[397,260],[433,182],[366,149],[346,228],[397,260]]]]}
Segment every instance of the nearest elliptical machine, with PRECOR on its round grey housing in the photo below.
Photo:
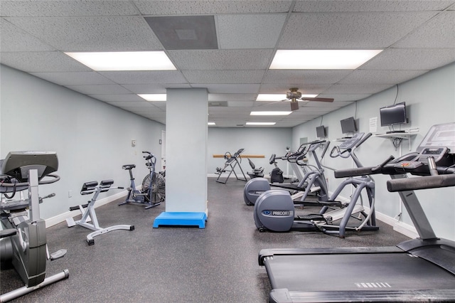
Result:
{"type": "MultiPolygon", "coordinates": [[[[338,147],[333,147],[331,157],[342,156],[343,158],[352,158],[358,167],[362,167],[355,149],[371,137],[371,133],[364,134],[360,132],[352,138],[347,139],[338,147]]],[[[315,231],[320,230],[329,235],[338,235],[344,238],[346,230],[378,230],[375,225],[375,183],[370,176],[349,177],[344,180],[332,196],[326,201],[326,205],[321,208],[317,214],[306,216],[295,216],[294,201],[292,201],[289,191],[282,189],[271,189],[262,193],[255,203],[254,218],[256,227],[259,231],[277,231],[284,232],[290,230],[315,231]],[[348,185],[355,187],[355,191],[350,197],[348,203],[336,201],[338,195],[348,185]],[[357,201],[365,189],[368,201],[369,212],[366,213],[362,204],[357,201]],[[333,211],[328,211],[328,207],[336,206],[333,211]],[[360,213],[363,220],[356,226],[348,226],[348,220],[353,214],[360,213]],[[339,225],[333,224],[333,221],[341,220],[339,225]]]]}

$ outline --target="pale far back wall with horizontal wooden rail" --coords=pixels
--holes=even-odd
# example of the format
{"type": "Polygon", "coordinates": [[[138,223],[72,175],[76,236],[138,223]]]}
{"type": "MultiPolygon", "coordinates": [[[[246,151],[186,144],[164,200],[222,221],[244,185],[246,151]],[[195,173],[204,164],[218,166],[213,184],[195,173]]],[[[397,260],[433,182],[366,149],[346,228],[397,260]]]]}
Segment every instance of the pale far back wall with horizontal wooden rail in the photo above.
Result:
{"type": "MultiPolygon", "coordinates": [[[[257,168],[263,167],[264,174],[268,176],[268,173],[274,168],[269,164],[270,156],[272,154],[284,156],[286,147],[291,147],[291,143],[292,129],[290,128],[208,127],[208,174],[213,175],[217,167],[223,167],[225,164],[225,159],[213,158],[214,154],[225,154],[226,151],[234,154],[238,149],[245,149],[243,154],[264,155],[264,158],[252,158],[251,160],[257,168]]],[[[242,159],[240,165],[247,176],[247,171],[251,171],[248,160],[242,159]]],[[[278,166],[286,174],[286,164],[279,161],[278,166]]],[[[247,179],[249,179],[248,176],[247,179]]]]}

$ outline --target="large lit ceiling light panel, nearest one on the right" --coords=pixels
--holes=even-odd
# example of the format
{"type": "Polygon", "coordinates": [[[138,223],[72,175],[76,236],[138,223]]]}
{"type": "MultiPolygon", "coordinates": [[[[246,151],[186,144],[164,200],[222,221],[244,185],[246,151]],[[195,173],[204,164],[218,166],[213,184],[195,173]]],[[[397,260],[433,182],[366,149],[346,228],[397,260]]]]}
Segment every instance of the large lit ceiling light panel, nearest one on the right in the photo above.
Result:
{"type": "Polygon", "coordinates": [[[354,70],[382,50],[277,50],[271,70],[354,70]]]}

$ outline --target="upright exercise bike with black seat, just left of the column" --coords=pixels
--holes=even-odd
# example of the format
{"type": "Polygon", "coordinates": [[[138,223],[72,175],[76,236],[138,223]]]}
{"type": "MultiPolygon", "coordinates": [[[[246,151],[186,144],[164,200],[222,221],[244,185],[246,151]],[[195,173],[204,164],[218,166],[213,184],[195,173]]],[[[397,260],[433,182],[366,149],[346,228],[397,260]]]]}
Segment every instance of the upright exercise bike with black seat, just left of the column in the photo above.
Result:
{"type": "Polygon", "coordinates": [[[146,160],[145,165],[149,168],[149,174],[144,177],[141,190],[137,190],[132,172],[132,169],[134,169],[136,165],[127,164],[122,166],[122,169],[129,171],[129,181],[131,184],[129,188],[127,188],[128,195],[126,200],[119,203],[119,205],[139,203],[145,204],[145,209],[149,209],[159,206],[161,202],[164,202],[165,200],[166,180],[164,179],[164,174],[155,172],[156,156],[149,151],[142,151],[142,154],[144,154],[144,159],[146,160]]]}

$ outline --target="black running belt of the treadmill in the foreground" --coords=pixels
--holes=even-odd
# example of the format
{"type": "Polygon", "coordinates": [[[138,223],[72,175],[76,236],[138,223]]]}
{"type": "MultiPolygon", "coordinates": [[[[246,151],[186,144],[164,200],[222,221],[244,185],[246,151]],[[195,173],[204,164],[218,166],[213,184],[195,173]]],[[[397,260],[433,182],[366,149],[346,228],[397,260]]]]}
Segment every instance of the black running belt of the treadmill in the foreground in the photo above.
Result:
{"type": "Polygon", "coordinates": [[[275,255],[264,265],[272,288],[289,291],[455,289],[454,275],[407,253],[275,255]]]}

